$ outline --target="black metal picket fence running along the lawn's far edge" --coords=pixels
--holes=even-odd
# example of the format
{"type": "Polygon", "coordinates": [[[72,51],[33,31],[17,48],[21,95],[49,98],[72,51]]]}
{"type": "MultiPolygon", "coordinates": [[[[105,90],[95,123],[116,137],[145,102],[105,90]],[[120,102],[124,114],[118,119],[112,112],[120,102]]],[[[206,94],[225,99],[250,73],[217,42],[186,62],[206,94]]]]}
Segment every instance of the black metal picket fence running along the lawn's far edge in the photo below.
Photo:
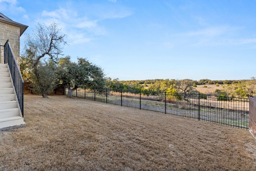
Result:
{"type": "MultiPolygon", "coordinates": [[[[65,94],[67,91],[65,89],[65,94]]],[[[87,87],[78,88],[73,96],[231,127],[249,128],[248,98],[87,87]]]]}

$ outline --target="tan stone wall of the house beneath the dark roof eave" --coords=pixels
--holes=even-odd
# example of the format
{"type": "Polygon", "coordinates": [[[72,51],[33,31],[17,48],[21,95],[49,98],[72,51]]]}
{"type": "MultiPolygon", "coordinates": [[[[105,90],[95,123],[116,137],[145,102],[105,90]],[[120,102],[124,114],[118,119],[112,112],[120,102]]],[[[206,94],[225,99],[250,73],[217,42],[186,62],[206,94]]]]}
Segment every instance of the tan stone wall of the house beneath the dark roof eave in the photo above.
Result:
{"type": "MultiPolygon", "coordinates": [[[[6,40],[9,40],[12,52],[18,66],[20,66],[20,28],[0,22],[0,45],[4,46],[6,40]]],[[[4,48],[1,47],[1,63],[4,62],[4,48]]]]}

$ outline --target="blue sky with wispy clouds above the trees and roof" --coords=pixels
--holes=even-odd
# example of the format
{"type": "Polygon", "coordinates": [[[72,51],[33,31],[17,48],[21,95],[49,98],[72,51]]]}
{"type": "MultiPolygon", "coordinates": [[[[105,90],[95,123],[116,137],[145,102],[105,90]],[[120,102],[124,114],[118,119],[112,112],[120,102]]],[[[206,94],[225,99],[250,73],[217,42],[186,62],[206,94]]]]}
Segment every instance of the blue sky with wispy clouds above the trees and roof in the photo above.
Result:
{"type": "Polygon", "coordinates": [[[0,0],[25,33],[56,22],[65,55],[119,80],[256,77],[255,9],[255,0],[0,0]]]}

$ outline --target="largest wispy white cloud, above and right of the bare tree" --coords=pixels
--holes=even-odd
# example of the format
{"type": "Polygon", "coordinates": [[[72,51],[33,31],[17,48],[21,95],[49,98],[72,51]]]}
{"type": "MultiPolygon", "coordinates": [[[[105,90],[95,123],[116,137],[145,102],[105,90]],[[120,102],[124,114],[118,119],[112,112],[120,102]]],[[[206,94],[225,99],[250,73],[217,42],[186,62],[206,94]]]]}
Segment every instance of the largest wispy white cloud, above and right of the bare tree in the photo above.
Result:
{"type": "MultiPolygon", "coordinates": [[[[111,0],[111,2],[116,2],[111,0]]],[[[107,34],[104,26],[100,25],[102,20],[124,18],[132,15],[132,11],[122,6],[101,6],[89,4],[68,3],[56,10],[43,10],[42,18],[36,22],[49,25],[52,22],[58,24],[61,32],[66,34],[68,44],[90,42],[99,36],[107,34]],[[78,6],[85,6],[79,9],[78,6]],[[90,10],[85,10],[90,9],[90,10]]]]}

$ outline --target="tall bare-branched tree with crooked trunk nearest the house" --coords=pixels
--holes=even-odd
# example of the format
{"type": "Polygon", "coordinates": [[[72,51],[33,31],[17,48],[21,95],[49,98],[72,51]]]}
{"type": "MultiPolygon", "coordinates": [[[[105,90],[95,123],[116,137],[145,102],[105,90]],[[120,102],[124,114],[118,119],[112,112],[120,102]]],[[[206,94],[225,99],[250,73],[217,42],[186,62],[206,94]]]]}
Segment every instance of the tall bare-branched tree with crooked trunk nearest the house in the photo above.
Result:
{"type": "MultiPolygon", "coordinates": [[[[61,45],[66,44],[64,37],[65,35],[60,34],[60,29],[56,23],[52,23],[50,26],[38,23],[33,34],[26,34],[25,36],[24,54],[22,56],[27,62],[30,62],[30,71],[35,78],[34,83],[39,87],[42,97],[47,98],[47,93],[52,91],[53,86],[49,86],[49,82],[46,86],[39,69],[42,66],[47,66],[49,61],[57,63],[58,56],[63,55],[61,45]]],[[[55,84],[54,80],[52,80],[52,84],[55,84]]]]}

